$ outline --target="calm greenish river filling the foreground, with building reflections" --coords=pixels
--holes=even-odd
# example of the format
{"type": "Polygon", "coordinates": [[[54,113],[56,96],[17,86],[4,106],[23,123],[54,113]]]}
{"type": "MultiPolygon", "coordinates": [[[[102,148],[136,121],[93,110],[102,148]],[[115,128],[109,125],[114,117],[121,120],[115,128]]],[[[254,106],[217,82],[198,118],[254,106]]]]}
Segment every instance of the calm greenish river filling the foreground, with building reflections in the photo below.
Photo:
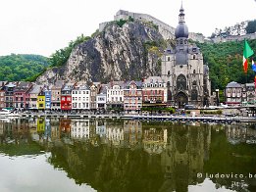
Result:
{"type": "Polygon", "coordinates": [[[0,120],[0,191],[253,192],[256,126],[0,120]]]}

